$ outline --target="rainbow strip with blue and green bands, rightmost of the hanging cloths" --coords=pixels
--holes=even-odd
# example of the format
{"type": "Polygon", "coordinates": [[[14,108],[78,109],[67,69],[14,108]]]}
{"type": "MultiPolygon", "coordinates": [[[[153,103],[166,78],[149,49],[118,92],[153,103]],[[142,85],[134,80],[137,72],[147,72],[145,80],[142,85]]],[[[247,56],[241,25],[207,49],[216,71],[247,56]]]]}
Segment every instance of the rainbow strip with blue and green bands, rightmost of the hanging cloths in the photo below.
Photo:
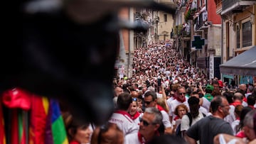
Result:
{"type": "Polygon", "coordinates": [[[60,106],[55,99],[50,99],[48,120],[46,123],[46,143],[68,144],[63,117],[60,113],[60,106]]]}

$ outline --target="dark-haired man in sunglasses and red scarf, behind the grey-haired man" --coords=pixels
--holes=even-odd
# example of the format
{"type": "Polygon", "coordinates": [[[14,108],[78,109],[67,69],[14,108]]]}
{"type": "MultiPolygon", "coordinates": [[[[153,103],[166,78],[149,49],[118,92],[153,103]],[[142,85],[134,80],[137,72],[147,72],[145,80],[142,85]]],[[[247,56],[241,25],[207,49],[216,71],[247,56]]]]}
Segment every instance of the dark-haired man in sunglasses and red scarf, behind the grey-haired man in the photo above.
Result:
{"type": "Polygon", "coordinates": [[[156,102],[157,102],[156,92],[149,91],[144,94],[145,107],[146,108],[155,107],[156,109],[159,109],[159,111],[161,111],[161,114],[163,116],[164,133],[171,134],[172,133],[172,131],[171,131],[172,125],[171,125],[171,121],[169,119],[169,115],[164,110],[164,108],[159,106],[156,102]]]}

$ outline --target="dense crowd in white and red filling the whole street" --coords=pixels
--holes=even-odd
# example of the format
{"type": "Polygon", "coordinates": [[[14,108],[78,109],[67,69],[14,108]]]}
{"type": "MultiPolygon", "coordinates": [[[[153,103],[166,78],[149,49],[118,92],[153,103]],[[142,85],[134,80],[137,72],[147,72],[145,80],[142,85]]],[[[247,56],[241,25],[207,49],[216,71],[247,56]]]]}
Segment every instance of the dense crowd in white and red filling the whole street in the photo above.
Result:
{"type": "Polygon", "coordinates": [[[114,78],[113,92],[101,127],[63,115],[72,143],[256,143],[256,87],[207,79],[170,43],[135,50],[132,77],[114,78]]]}

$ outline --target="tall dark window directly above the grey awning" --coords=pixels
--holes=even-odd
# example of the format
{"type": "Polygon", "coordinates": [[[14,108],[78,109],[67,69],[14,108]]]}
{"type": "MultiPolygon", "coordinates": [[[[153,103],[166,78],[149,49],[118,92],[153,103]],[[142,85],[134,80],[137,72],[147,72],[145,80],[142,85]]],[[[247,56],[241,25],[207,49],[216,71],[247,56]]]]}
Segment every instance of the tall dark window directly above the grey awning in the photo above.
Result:
{"type": "Polygon", "coordinates": [[[242,23],[242,47],[252,45],[252,23],[242,23]]]}

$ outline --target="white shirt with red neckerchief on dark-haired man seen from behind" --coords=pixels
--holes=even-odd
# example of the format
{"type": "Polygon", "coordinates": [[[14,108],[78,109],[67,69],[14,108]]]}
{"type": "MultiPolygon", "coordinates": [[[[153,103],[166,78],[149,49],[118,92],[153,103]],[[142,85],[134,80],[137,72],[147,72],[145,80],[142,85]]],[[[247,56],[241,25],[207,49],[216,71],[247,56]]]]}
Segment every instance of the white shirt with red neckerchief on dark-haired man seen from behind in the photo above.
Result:
{"type": "Polygon", "coordinates": [[[123,131],[124,135],[127,135],[128,133],[137,133],[139,131],[139,127],[134,123],[126,111],[115,111],[109,122],[117,124],[117,127],[123,131]]]}

